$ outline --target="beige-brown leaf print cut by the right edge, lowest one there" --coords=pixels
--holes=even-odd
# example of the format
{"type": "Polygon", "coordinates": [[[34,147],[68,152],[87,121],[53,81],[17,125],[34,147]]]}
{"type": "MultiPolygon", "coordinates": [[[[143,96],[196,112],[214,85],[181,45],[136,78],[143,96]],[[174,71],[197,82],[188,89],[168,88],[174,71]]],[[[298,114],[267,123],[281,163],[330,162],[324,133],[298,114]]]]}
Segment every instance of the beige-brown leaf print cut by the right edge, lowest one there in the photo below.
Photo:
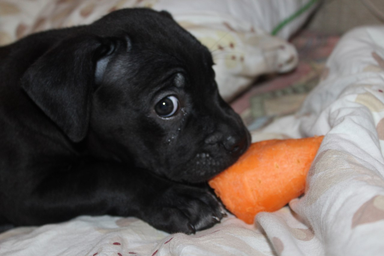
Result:
{"type": "Polygon", "coordinates": [[[353,215],[352,228],[384,219],[384,196],[378,195],[364,203],[353,215]]]}

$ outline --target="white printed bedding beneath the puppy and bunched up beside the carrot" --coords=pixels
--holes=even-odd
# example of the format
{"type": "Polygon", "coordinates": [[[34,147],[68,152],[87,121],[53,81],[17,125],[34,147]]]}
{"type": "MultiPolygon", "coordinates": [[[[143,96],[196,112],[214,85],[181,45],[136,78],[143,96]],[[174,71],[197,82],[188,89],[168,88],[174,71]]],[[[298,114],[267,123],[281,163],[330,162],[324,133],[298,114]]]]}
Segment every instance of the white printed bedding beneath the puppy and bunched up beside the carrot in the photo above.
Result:
{"type": "Polygon", "coordinates": [[[305,196],[254,225],[233,216],[194,235],[136,218],[81,216],[0,234],[0,255],[383,255],[384,27],[346,34],[301,110],[254,140],[326,135],[305,196]]]}

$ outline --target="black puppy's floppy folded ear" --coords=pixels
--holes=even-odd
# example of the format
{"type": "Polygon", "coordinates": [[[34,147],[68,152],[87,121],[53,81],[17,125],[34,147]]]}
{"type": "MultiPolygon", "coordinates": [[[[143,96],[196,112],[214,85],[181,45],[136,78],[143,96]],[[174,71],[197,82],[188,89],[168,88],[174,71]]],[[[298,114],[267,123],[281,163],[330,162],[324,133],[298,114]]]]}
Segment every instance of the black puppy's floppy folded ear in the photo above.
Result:
{"type": "Polygon", "coordinates": [[[116,47],[114,40],[83,35],[56,44],[36,60],[22,77],[22,88],[73,142],[88,131],[96,65],[116,47]]]}

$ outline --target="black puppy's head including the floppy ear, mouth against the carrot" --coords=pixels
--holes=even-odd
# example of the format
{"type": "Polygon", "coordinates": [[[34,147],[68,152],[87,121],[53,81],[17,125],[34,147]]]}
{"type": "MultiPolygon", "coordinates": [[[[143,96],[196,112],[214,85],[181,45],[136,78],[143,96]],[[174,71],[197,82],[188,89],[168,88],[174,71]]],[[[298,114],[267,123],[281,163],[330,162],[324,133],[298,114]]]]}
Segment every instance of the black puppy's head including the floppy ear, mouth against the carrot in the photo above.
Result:
{"type": "Polygon", "coordinates": [[[73,56],[72,68],[41,74],[35,63],[26,74],[63,81],[56,91],[23,83],[71,140],[93,134],[114,158],[188,182],[208,180],[247,149],[249,133],[218,94],[210,52],[168,14],[121,10],[82,34],[50,51],[60,63],[73,56]]]}

